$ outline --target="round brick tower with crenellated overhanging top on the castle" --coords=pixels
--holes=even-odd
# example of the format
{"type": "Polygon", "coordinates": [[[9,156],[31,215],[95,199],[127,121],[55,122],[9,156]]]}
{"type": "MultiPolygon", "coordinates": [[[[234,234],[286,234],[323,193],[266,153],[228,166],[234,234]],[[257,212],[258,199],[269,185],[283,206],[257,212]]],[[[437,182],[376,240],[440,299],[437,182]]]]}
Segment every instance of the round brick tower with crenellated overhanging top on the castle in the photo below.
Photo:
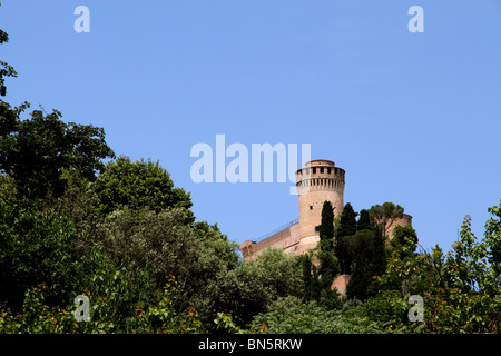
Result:
{"type": "Polygon", "coordinates": [[[318,235],[315,227],[322,221],[322,207],[331,201],[334,216],[343,210],[344,169],[334,167],[332,160],[315,159],[296,171],[299,195],[299,237],[318,235]]]}

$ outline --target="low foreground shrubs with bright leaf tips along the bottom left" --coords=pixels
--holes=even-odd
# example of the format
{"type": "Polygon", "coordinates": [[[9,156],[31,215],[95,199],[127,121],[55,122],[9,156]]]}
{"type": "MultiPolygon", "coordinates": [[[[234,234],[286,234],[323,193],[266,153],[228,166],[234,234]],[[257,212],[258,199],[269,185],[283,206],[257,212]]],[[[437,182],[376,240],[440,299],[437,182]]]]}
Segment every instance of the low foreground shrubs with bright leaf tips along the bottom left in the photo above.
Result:
{"type": "MultiPolygon", "coordinates": [[[[118,276],[118,275],[117,275],[118,276]]],[[[117,285],[120,278],[114,278],[117,285]]],[[[100,280],[98,277],[97,280],[100,280]]],[[[130,285],[122,284],[130,287],[130,285]]],[[[169,276],[164,293],[156,305],[128,308],[120,315],[118,305],[120,294],[117,290],[108,293],[107,297],[94,296],[88,289],[84,291],[90,300],[90,322],[77,323],[73,317],[76,306],[67,308],[49,308],[45,303],[46,285],[39,285],[27,293],[23,313],[16,317],[8,309],[0,313],[0,333],[37,333],[37,334],[107,334],[107,333],[140,333],[140,334],[191,334],[205,332],[197,312],[189,308],[178,313],[175,308],[176,283],[169,276]]],[[[106,289],[106,288],[105,288],[106,289]]]]}

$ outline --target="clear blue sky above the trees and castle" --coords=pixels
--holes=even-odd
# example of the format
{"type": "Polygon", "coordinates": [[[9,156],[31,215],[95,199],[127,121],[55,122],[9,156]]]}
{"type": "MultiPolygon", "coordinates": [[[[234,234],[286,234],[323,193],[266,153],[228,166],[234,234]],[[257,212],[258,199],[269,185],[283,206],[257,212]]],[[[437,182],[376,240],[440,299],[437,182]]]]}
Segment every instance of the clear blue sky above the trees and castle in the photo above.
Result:
{"type": "Polygon", "coordinates": [[[345,202],[402,205],[426,248],[449,249],[465,215],[482,237],[501,198],[499,0],[1,2],[0,60],[19,73],[4,99],[159,160],[196,217],[237,243],[297,218],[297,196],[289,182],[194,182],[190,149],[218,134],[249,151],[310,144],[346,170],[345,202]],[[75,31],[78,6],[90,32],[75,31]],[[424,32],[407,29],[412,6],[424,32]]]}

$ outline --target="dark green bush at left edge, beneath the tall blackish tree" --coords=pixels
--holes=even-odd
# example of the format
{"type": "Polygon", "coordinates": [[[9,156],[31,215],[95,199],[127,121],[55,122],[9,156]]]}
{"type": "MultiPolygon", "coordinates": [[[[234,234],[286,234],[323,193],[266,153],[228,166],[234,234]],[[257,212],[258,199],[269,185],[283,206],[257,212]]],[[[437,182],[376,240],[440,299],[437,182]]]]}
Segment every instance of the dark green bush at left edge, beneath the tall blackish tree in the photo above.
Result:
{"type": "Polygon", "coordinates": [[[0,300],[19,310],[24,293],[47,284],[57,305],[78,286],[81,273],[71,222],[53,210],[39,211],[27,199],[0,199],[0,300]]]}

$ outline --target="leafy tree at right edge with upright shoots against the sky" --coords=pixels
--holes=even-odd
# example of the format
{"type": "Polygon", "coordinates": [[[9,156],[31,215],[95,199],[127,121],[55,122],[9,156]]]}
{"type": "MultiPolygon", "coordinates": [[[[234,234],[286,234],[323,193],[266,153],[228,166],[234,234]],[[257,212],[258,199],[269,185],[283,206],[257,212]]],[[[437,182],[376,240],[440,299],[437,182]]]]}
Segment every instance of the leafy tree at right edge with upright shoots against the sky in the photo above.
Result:
{"type": "Polygon", "coordinates": [[[426,333],[499,333],[501,330],[501,276],[493,256],[501,240],[501,205],[489,209],[484,238],[479,241],[465,217],[460,240],[446,254],[436,245],[431,253],[412,256],[411,238],[389,259],[379,278],[382,288],[395,289],[402,298],[420,295],[424,299],[426,333]],[[411,257],[409,257],[411,256],[411,257]]]}

